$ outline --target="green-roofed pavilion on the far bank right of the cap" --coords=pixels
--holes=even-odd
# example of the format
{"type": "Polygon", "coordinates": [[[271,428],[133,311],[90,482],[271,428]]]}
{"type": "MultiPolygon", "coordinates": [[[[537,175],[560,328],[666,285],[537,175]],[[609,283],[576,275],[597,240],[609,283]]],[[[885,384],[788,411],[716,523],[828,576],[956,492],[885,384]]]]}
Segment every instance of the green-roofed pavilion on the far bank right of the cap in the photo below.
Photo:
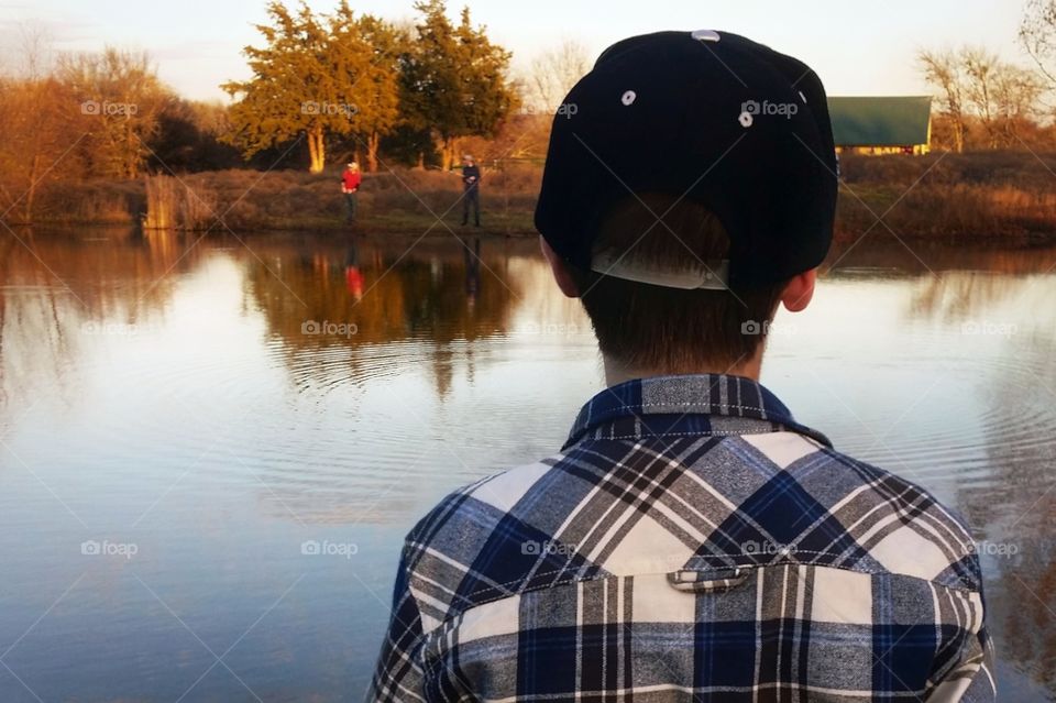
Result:
{"type": "Polygon", "coordinates": [[[926,154],[932,138],[928,96],[828,99],[837,151],[926,154]]]}

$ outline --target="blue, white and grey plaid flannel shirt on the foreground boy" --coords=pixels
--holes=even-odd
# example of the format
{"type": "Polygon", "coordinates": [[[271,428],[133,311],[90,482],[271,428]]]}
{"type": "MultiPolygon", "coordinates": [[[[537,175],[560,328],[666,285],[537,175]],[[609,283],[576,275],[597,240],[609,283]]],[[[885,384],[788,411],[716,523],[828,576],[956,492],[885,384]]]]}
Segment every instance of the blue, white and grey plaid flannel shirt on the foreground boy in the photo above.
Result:
{"type": "Polygon", "coordinates": [[[725,375],[624,383],[409,534],[371,701],[992,701],[961,521],[725,375]]]}

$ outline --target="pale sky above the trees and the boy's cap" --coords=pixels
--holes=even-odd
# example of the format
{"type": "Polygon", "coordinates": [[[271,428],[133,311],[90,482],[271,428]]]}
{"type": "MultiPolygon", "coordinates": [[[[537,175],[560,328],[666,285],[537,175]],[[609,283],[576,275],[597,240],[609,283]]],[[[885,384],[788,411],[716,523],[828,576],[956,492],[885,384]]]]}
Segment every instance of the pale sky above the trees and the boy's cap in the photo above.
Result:
{"type": "MultiPolygon", "coordinates": [[[[312,0],[329,11],[336,0],[312,0]]],[[[413,0],[352,0],[353,10],[393,20],[414,17],[413,0]]],[[[1015,33],[1024,0],[471,0],[474,22],[514,52],[515,68],[563,40],[592,58],[605,46],[654,30],[718,29],[745,34],[810,64],[829,95],[921,94],[920,47],[982,44],[1023,64],[1015,33]]],[[[241,50],[257,43],[252,24],[264,0],[0,0],[0,41],[10,57],[13,28],[47,29],[58,51],[105,44],[147,50],[162,78],[198,99],[224,97],[217,87],[248,74],[241,50]]],[[[462,3],[451,2],[453,17],[462,3]]]]}

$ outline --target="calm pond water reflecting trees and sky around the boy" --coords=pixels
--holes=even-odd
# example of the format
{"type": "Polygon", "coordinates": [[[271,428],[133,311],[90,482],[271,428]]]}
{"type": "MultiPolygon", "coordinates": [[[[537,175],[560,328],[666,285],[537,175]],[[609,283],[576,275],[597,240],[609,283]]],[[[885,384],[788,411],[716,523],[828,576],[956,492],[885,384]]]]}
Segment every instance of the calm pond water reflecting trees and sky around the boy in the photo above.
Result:
{"type": "MultiPolygon", "coordinates": [[[[4,703],[360,700],[402,536],[556,451],[602,387],[532,241],[470,241],[474,266],[451,237],[23,237],[0,238],[4,703]]],[[[1056,249],[873,237],[779,318],[762,381],[968,517],[1001,697],[1056,700],[1056,249]]]]}

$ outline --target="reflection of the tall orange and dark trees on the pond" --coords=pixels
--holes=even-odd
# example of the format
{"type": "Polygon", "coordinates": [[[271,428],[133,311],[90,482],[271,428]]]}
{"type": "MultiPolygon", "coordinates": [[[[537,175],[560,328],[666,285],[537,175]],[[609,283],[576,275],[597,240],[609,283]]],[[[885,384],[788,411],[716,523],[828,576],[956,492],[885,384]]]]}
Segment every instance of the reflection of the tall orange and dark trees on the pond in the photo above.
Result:
{"type": "Polygon", "coordinates": [[[427,342],[442,397],[457,360],[472,360],[466,343],[509,330],[522,294],[507,265],[525,254],[525,242],[496,240],[483,253],[480,238],[453,246],[428,242],[407,254],[411,243],[304,238],[268,245],[267,257],[246,262],[246,293],[282,342],[295,383],[332,386],[398,373],[421,363],[425,347],[414,342],[427,342]],[[393,344],[389,353],[363,353],[383,343],[393,344]]]}

